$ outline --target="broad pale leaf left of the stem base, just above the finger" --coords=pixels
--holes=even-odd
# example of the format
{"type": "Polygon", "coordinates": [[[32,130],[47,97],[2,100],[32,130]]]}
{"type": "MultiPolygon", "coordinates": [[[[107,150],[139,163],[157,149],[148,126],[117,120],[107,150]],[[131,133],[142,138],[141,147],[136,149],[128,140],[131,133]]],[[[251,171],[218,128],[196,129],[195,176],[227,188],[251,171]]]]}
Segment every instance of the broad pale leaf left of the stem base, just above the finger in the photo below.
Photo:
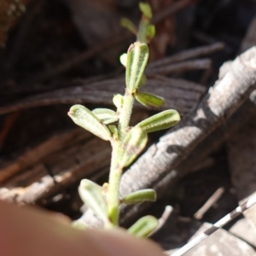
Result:
{"type": "Polygon", "coordinates": [[[108,223],[108,207],[104,196],[102,195],[102,187],[90,181],[82,179],[79,185],[79,195],[90,209],[101,218],[104,223],[108,223]]]}

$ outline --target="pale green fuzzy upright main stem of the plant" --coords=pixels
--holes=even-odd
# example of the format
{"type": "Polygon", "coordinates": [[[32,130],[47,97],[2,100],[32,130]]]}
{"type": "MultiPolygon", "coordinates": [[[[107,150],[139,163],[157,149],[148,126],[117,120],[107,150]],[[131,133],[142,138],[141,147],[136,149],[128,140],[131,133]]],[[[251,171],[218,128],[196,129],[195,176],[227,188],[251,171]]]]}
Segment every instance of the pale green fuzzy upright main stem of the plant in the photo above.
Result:
{"type": "Polygon", "coordinates": [[[124,103],[119,114],[118,141],[112,143],[112,157],[108,180],[108,214],[113,225],[119,224],[119,184],[123,167],[119,166],[119,147],[127,133],[131,112],[134,104],[134,96],[128,90],[125,91],[124,103]]]}

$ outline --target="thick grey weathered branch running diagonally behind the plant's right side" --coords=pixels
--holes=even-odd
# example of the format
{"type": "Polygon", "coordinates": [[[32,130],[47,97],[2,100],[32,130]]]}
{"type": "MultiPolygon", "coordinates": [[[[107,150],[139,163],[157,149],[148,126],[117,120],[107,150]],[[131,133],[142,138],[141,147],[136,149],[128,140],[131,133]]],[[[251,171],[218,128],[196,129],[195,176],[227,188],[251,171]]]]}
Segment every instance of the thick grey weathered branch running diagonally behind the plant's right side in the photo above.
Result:
{"type": "MultiPolygon", "coordinates": [[[[137,189],[154,188],[159,197],[200,160],[218,148],[224,139],[241,127],[256,112],[256,94],[248,95],[256,86],[256,48],[221,67],[218,81],[210,88],[197,108],[168,131],[160,142],[125,172],[121,195],[137,189]],[[239,109],[239,111],[237,111],[239,109]],[[232,129],[230,129],[232,128],[232,129]]],[[[143,203],[122,207],[121,223],[131,224],[134,218],[151,204],[143,203]]],[[[90,211],[84,222],[98,225],[90,211]]]]}

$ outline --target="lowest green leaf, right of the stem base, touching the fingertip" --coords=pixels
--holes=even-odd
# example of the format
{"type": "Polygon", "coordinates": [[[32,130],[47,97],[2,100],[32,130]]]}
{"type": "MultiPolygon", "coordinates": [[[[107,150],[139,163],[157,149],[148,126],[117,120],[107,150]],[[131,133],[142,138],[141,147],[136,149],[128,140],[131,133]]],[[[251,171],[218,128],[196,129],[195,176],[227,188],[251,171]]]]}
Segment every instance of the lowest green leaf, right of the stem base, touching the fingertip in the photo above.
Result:
{"type": "Polygon", "coordinates": [[[149,236],[155,228],[158,226],[157,218],[153,216],[145,216],[137,220],[135,224],[133,224],[127,232],[133,236],[137,237],[147,237],[149,236]]]}

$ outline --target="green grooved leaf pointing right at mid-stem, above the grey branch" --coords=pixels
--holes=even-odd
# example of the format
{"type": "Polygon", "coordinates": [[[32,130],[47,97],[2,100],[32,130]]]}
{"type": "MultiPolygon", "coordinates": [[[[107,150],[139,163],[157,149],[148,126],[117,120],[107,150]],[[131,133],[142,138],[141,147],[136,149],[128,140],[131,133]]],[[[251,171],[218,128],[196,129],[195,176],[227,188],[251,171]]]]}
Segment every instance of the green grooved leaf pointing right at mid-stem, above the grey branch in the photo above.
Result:
{"type": "Polygon", "coordinates": [[[156,113],[148,119],[138,123],[136,127],[143,128],[146,132],[160,131],[176,125],[180,121],[179,113],[174,109],[169,109],[161,113],[156,113]]]}

